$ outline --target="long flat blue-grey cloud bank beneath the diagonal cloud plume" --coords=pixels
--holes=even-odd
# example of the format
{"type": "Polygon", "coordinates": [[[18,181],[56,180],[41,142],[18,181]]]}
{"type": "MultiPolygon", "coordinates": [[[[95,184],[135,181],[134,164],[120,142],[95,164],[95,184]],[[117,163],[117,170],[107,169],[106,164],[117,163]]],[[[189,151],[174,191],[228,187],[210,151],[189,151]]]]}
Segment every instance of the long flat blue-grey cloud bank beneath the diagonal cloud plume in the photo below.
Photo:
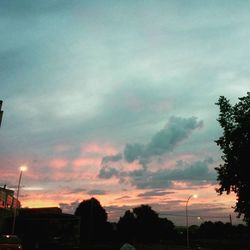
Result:
{"type": "Polygon", "coordinates": [[[211,158],[192,164],[180,164],[177,162],[174,169],[160,169],[154,172],[146,168],[122,171],[105,166],[100,170],[99,177],[103,179],[116,177],[120,182],[124,182],[126,179],[133,186],[140,189],[171,188],[172,181],[187,181],[191,182],[193,186],[200,186],[216,180],[215,171],[209,169],[209,164],[211,163],[213,163],[211,158]]]}

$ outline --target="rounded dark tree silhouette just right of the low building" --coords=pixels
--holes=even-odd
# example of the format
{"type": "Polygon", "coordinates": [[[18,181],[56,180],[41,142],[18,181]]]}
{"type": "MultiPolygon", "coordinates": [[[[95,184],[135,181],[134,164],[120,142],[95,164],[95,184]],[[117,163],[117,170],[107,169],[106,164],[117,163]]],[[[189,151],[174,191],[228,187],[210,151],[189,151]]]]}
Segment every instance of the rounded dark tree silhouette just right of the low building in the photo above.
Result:
{"type": "Polygon", "coordinates": [[[107,234],[107,213],[95,198],[82,201],[75,215],[81,218],[81,242],[104,240],[107,234]]]}

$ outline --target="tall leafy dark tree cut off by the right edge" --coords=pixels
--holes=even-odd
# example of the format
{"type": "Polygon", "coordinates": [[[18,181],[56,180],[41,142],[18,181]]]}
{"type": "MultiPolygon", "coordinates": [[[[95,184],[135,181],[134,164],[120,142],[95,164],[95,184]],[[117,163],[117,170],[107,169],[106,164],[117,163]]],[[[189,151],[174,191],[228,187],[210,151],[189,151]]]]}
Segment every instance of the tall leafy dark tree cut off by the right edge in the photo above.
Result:
{"type": "Polygon", "coordinates": [[[221,96],[216,103],[220,107],[218,122],[223,135],[216,140],[222,150],[222,160],[217,180],[219,194],[234,192],[237,196],[235,212],[244,216],[250,223],[250,92],[239,98],[239,102],[231,105],[221,96]]]}

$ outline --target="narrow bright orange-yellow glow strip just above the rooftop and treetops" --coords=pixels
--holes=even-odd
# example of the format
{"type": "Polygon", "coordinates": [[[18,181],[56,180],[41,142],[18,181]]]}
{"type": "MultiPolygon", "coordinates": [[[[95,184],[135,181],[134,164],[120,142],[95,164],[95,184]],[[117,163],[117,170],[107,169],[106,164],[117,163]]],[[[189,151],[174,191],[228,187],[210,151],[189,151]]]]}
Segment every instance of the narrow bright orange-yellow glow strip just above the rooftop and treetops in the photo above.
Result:
{"type": "MultiPolygon", "coordinates": [[[[230,195],[222,195],[218,196],[213,189],[215,186],[208,186],[202,189],[200,189],[199,193],[197,192],[197,198],[196,199],[190,199],[190,206],[199,204],[201,207],[202,204],[209,204],[212,206],[214,203],[218,204],[224,204],[225,208],[231,209],[233,204],[236,202],[236,196],[235,194],[230,195]],[[212,189],[212,191],[211,191],[212,189]]],[[[108,195],[90,195],[87,193],[83,193],[81,196],[79,194],[72,194],[67,193],[66,190],[62,190],[60,193],[48,193],[42,194],[41,190],[38,189],[38,191],[34,190],[34,195],[32,195],[31,191],[23,190],[22,193],[26,192],[29,193],[29,195],[23,196],[22,199],[22,206],[23,207],[39,207],[39,206],[58,206],[59,203],[71,203],[73,201],[82,201],[89,199],[90,197],[96,197],[103,206],[110,206],[110,205],[116,205],[116,206],[134,206],[134,205],[140,205],[145,203],[153,203],[157,202],[158,200],[161,200],[162,203],[168,202],[168,201],[175,201],[179,200],[179,207],[184,208],[185,202],[187,200],[187,195],[189,195],[190,191],[188,190],[175,190],[174,194],[166,195],[164,197],[150,197],[149,199],[145,199],[145,197],[139,197],[138,195],[145,190],[135,190],[129,191],[129,197],[127,199],[120,199],[120,197],[126,197],[127,191],[119,191],[119,192],[113,192],[109,193],[108,195]],[[35,198],[37,197],[37,198],[35,198]],[[147,201],[147,202],[145,202],[147,201]]]]}

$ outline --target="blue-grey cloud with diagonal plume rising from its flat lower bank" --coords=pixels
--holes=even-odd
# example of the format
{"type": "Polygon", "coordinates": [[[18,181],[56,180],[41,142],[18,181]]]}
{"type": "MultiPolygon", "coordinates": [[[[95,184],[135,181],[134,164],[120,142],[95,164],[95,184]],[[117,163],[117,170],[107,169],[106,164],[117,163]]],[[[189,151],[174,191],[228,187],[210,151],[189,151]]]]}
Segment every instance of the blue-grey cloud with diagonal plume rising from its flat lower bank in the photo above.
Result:
{"type": "MultiPolygon", "coordinates": [[[[196,182],[196,185],[202,184],[203,181],[214,181],[215,173],[210,172],[208,167],[209,164],[213,163],[211,158],[192,164],[177,161],[174,169],[151,171],[148,168],[148,164],[153,157],[160,157],[173,151],[192,131],[200,128],[202,125],[203,122],[198,121],[195,117],[171,117],[166,126],[157,132],[148,144],[127,144],[123,157],[122,154],[105,156],[98,176],[103,179],[116,177],[120,182],[126,180],[141,189],[170,188],[173,180],[196,182]],[[126,171],[112,166],[112,163],[120,160],[128,163],[138,161],[142,168],[126,171]]],[[[158,192],[158,195],[160,194],[158,192]]]]}

